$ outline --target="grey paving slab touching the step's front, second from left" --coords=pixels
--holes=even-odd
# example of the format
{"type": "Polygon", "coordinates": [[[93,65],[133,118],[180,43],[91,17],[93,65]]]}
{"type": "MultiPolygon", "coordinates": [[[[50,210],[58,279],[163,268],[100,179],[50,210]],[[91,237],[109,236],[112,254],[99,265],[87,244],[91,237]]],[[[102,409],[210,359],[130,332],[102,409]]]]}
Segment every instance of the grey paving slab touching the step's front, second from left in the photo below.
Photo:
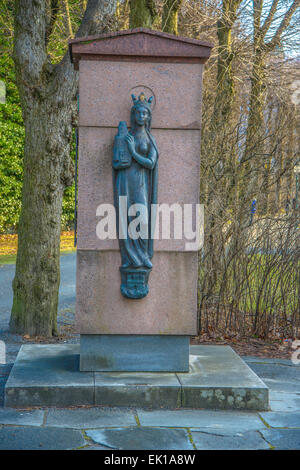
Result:
{"type": "Polygon", "coordinates": [[[73,429],[134,425],[134,412],[118,408],[51,409],[46,420],[46,426],[73,429]]]}

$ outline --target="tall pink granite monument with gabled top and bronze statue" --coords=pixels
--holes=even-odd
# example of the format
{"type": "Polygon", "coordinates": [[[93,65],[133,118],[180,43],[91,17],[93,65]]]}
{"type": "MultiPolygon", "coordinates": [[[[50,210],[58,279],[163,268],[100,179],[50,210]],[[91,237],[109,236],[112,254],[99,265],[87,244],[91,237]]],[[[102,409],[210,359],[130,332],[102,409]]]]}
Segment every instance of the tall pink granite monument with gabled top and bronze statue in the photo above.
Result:
{"type": "MultiPolygon", "coordinates": [[[[157,203],[157,223],[161,212],[170,208],[172,212],[174,204],[183,217],[184,205],[196,210],[202,72],[211,45],[135,29],[74,39],[70,47],[80,77],[76,293],[80,368],[188,371],[189,340],[197,334],[199,246],[187,247],[192,244],[184,234],[152,240],[150,222],[147,241],[99,239],[96,227],[98,208],[114,204],[119,231],[119,196],[127,196],[128,206],[144,201],[150,208],[157,203]],[[144,137],[139,137],[141,117],[136,113],[143,109],[149,122],[144,137]],[[144,141],[138,142],[141,138],[144,141]],[[114,145],[116,139],[121,143],[114,145]],[[134,140],[138,157],[133,154],[134,140]],[[125,163],[118,160],[118,145],[121,154],[125,148],[125,163]]],[[[127,219],[124,225],[127,228],[127,219]]]]}

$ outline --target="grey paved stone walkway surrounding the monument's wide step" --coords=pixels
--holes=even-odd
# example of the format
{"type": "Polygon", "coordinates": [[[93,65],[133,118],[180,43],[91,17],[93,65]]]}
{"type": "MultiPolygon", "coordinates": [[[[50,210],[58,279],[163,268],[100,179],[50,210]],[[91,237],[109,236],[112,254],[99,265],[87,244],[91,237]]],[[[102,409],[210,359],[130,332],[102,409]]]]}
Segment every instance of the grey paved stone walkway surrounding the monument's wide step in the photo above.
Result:
{"type": "MultiPolygon", "coordinates": [[[[74,268],[74,255],[62,257],[61,324],[72,323],[74,268]]],[[[0,449],[300,449],[300,365],[281,359],[244,358],[270,388],[269,412],[3,408],[4,385],[23,342],[8,333],[13,273],[14,266],[0,267],[0,339],[10,362],[0,364],[0,449]]]]}

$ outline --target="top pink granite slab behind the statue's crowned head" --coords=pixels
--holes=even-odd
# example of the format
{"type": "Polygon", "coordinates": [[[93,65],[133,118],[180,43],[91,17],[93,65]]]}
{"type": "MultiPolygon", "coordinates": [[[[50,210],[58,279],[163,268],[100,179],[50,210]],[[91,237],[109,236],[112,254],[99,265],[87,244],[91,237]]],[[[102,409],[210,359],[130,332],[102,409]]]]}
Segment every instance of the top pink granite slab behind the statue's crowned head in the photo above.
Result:
{"type": "Polygon", "coordinates": [[[80,61],[80,126],[127,121],[131,94],[153,95],[153,128],[200,129],[202,64],[80,61]]]}

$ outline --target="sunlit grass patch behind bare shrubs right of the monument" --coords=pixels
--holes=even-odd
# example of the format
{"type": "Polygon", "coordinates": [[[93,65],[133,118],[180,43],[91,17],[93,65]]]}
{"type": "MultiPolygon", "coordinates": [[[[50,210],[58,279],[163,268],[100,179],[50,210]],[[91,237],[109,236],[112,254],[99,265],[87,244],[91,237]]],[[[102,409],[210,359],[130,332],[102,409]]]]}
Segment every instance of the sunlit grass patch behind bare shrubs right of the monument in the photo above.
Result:
{"type": "MultiPolygon", "coordinates": [[[[297,260],[280,255],[253,254],[231,264],[226,272],[217,276],[215,298],[223,297],[221,310],[234,305],[234,310],[247,314],[272,315],[281,312],[287,317],[294,314],[299,296],[299,269],[297,260]]],[[[199,270],[200,285],[205,279],[205,266],[199,270]]]]}

